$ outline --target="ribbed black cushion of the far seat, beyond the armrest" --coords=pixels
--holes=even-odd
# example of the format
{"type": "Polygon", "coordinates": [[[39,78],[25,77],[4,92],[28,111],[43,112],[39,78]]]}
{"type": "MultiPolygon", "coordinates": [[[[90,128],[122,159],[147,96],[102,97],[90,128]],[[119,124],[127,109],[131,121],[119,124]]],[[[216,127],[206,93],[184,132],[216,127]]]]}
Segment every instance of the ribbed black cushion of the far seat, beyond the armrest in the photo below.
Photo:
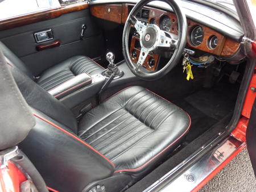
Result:
{"type": "Polygon", "coordinates": [[[50,90],[78,74],[88,73],[93,75],[101,73],[104,69],[105,68],[89,57],[75,56],[46,70],[42,76],[40,76],[37,83],[42,86],[43,89],[50,90]]]}

